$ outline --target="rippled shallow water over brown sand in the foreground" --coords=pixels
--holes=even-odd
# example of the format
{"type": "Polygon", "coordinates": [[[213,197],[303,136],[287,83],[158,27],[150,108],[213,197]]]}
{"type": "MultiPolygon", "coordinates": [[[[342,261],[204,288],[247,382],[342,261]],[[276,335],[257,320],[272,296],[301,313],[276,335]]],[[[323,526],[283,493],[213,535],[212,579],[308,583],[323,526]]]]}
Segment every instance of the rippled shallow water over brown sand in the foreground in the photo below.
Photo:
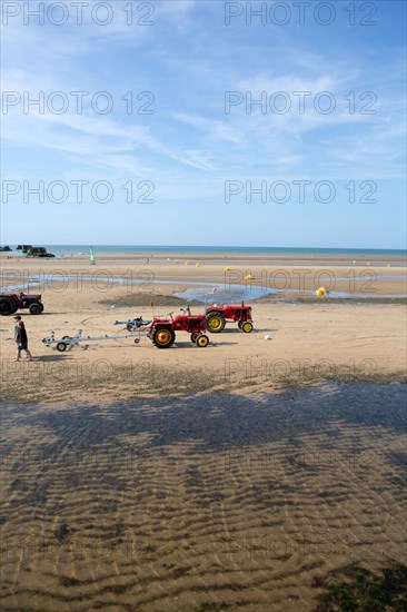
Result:
{"type": "Polygon", "coordinates": [[[2,609],[312,610],[403,561],[406,392],[2,405],[2,609]]]}

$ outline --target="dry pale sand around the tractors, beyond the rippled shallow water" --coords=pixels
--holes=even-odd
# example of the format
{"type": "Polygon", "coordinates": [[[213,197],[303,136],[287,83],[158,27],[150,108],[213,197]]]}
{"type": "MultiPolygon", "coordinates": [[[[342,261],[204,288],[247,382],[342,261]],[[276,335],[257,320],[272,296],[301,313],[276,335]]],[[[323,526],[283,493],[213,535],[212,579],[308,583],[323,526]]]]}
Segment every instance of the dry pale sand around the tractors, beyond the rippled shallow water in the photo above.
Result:
{"type": "MultiPolygon", "coordinates": [[[[281,383],[326,377],[403,379],[406,312],[401,296],[407,295],[403,264],[395,260],[389,268],[322,260],[300,266],[244,256],[228,256],[226,261],[214,256],[167,260],[166,255],[151,258],[146,253],[128,256],[126,261],[101,256],[90,266],[85,257],[40,260],[3,256],[3,286],[30,282],[29,290],[41,293],[44,304],[40,316],[21,313],[34,363],[12,363],[13,319],[0,319],[6,396],[10,393],[10,397],[28,402],[118,399],[146,392],[171,395],[208,388],[254,393],[281,383]],[[245,280],[248,275],[252,280],[245,280]],[[208,293],[208,303],[216,302],[214,286],[226,298],[230,293],[229,302],[236,295],[234,289],[240,289],[240,297],[258,290],[260,299],[251,303],[252,334],[228,324],[222,334],[209,335],[205,349],[192,345],[186,333],[179,333],[176,345],[166,351],[155,348],[146,337],[137,346],[132,338],[111,339],[63,354],[41,342],[51,330],[56,337],[75,335],[78,329],[93,337],[126,333],[116,320],[136,316],[149,320],[169,312],[176,315],[188,303],[171,296],[185,289],[208,293]],[[331,294],[316,297],[315,288],[320,286],[332,288],[331,294]],[[348,297],[335,298],[336,292],[348,297]],[[383,295],[396,299],[380,300],[383,295]]],[[[204,304],[192,304],[192,313],[204,312],[204,304]]]]}

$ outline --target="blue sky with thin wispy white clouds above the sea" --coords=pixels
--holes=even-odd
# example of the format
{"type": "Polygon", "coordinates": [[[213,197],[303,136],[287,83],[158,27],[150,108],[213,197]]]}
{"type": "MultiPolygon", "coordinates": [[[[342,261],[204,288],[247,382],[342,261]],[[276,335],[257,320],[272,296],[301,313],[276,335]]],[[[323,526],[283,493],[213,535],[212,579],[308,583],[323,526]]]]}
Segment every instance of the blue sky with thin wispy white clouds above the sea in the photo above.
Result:
{"type": "Polygon", "coordinates": [[[406,247],[404,1],[1,10],[1,244],[406,247]]]}

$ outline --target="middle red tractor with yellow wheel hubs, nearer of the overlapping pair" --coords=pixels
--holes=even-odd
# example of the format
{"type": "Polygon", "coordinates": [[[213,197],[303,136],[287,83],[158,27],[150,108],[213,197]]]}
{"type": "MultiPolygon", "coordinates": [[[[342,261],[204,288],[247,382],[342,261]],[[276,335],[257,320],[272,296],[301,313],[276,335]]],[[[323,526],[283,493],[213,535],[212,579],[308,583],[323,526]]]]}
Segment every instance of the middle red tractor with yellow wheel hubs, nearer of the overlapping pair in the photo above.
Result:
{"type": "Polygon", "coordinates": [[[208,346],[209,338],[204,333],[207,329],[205,315],[191,315],[189,308],[181,308],[182,315],[172,317],[155,317],[147,334],[158,348],[169,348],[176,339],[176,332],[188,332],[191,340],[199,347],[208,346]]]}

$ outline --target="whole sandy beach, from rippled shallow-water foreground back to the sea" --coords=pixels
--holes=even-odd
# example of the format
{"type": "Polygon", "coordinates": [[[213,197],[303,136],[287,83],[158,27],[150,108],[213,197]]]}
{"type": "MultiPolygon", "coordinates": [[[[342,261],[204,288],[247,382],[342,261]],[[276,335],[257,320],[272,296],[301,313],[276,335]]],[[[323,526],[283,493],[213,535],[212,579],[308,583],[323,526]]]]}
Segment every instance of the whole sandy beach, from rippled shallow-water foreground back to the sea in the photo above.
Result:
{"type": "Polygon", "coordinates": [[[1,263],[3,285],[29,279],[44,303],[21,313],[33,363],[12,361],[0,319],[4,610],[312,611],[329,572],[405,563],[403,261],[1,263]],[[150,303],[177,314],[173,293],[236,285],[260,290],[255,330],[228,324],[206,348],[41,342],[125,333],[115,322],[150,303]]]}

